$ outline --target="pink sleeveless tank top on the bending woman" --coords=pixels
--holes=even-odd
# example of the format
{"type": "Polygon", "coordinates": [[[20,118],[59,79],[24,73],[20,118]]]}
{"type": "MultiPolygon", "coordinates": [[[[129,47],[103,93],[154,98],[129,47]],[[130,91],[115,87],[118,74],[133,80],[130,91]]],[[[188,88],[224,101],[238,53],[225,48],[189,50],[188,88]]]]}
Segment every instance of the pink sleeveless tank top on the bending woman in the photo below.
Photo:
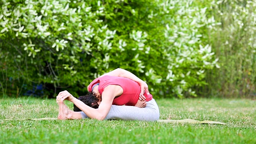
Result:
{"type": "MultiPolygon", "coordinates": [[[[92,91],[92,86],[94,84],[99,84],[98,90],[100,94],[104,91],[104,88],[108,85],[119,85],[123,89],[123,94],[117,98],[114,98],[113,103],[114,105],[122,106],[134,106],[138,100],[140,95],[140,85],[129,78],[123,78],[118,76],[102,76],[100,78],[96,78],[93,80],[90,85],[88,86],[88,90],[92,91]]],[[[152,94],[144,93],[146,97],[146,101],[152,100],[152,94]]]]}

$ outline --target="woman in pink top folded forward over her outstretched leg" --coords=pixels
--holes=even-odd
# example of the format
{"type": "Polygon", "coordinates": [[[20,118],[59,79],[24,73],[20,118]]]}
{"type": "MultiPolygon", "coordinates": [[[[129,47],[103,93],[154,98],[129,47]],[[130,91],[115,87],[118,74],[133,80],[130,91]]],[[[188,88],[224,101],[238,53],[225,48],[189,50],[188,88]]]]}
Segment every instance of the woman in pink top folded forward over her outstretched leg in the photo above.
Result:
{"type": "Polygon", "coordinates": [[[78,99],[69,92],[60,92],[56,98],[59,105],[59,119],[95,118],[146,120],[159,119],[159,109],[148,92],[147,84],[137,76],[123,69],[116,69],[96,78],[88,86],[89,94],[78,99]],[[146,92],[144,93],[144,90],[146,92]],[[142,102],[137,103],[138,99],[142,102]],[[64,105],[63,100],[74,103],[74,112],[64,105]],[[82,101],[83,102],[82,102],[82,101]],[[146,104],[144,108],[136,107],[146,104]],[[112,105],[113,104],[113,105],[112,105]],[[125,106],[123,106],[125,105],[125,106]],[[77,108],[76,108],[77,107],[77,108]],[[95,109],[96,108],[96,109],[95,109]]]}

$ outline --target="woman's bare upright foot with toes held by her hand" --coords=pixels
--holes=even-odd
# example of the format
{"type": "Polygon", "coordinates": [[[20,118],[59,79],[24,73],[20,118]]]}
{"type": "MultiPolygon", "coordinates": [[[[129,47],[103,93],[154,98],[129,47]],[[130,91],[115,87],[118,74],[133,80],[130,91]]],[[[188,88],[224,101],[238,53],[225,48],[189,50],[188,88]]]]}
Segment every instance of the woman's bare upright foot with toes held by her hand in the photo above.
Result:
{"type": "Polygon", "coordinates": [[[66,120],[66,119],[71,119],[70,116],[70,110],[68,107],[64,104],[62,100],[56,100],[57,104],[59,105],[59,114],[58,114],[58,119],[59,120],[66,120]]]}

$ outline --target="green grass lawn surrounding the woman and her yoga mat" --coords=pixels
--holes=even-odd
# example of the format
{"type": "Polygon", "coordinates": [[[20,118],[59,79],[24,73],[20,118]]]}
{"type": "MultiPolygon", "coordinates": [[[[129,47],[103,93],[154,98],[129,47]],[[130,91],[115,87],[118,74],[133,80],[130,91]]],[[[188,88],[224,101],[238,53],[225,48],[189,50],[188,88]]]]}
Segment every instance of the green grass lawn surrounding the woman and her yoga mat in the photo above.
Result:
{"type": "MultiPolygon", "coordinates": [[[[256,101],[246,99],[160,99],[160,119],[194,119],[215,124],[166,124],[123,120],[2,120],[56,118],[54,99],[0,99],[0,144],[237,144],[256,143],[256,101]]],[[[69,108],[72,103],[65,102],[69,108]]]]}

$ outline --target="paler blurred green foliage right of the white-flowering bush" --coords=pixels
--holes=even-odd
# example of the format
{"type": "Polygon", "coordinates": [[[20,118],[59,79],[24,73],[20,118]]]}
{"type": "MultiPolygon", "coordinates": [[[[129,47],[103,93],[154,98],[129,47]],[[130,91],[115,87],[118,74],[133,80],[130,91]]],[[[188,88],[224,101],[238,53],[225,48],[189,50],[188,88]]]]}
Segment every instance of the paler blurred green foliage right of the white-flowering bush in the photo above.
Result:
{"type": "Polygon", "coordinates": [[[211,96],[256,97],[256,1],[212,2],[212,15],[222,22],[208,38],[220,69],[209,71],[211,96]]]}

